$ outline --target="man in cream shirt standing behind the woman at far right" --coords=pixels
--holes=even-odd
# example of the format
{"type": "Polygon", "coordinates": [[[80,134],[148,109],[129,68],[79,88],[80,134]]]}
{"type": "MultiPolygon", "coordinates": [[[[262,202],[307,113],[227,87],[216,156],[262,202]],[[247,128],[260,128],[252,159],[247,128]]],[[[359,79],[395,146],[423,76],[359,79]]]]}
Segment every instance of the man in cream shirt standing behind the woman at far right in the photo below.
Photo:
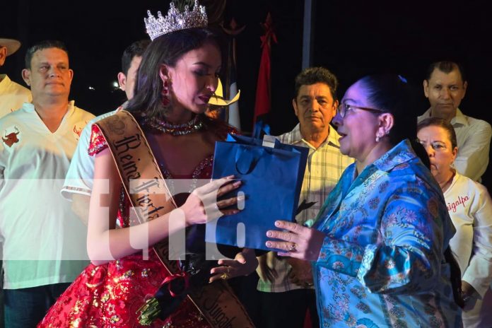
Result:
{"type": "Polygon", "coordinates": [[[450,122],[458,141],[456,170],[474,181],[480,181],[488,165],[492,127],[484,120],[469,117],[459,110],[467,86],[459,64],[452,61],[431,64],[423,80],[423,93],[430,102],[430,108],[418,117],[418,122],[427,117],[440,117],[450,122]]]}

